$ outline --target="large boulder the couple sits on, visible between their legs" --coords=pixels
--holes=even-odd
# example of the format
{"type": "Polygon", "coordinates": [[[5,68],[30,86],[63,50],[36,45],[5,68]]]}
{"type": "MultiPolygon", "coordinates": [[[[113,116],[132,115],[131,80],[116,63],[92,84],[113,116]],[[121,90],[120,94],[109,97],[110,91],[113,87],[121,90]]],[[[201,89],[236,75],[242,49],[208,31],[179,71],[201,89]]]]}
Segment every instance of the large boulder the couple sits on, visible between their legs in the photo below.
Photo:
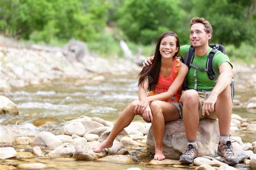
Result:
{"type": "MultiPolygon", "coordinates": [[[[202,119],[199,122],[197,132],[197,145],[199,155],[214,157],[217,154],[219,142],[218,120],[202,119]]],[[[164,155],[167,159],[179,159],[184,152],[187,138],[183,121],[171,121],[165,124],[165,134],[163,139],[164,155]]],[[[152,127],[147,134],[147,151],[154,153],[154,138],[152,127]]]]}

